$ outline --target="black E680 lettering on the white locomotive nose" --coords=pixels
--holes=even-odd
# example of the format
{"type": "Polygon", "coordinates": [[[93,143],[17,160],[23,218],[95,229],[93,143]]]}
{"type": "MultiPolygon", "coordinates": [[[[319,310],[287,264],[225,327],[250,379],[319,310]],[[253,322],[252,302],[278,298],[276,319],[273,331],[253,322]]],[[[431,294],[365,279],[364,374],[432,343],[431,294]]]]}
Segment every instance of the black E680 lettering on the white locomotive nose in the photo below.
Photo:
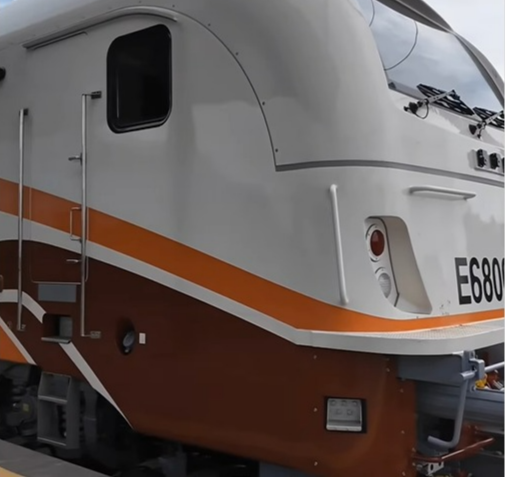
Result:
{"type": "Polygon", "coordinates": [[[456,257],[460,305],[501,301],[505,284],[505,259],[456,257]]]}

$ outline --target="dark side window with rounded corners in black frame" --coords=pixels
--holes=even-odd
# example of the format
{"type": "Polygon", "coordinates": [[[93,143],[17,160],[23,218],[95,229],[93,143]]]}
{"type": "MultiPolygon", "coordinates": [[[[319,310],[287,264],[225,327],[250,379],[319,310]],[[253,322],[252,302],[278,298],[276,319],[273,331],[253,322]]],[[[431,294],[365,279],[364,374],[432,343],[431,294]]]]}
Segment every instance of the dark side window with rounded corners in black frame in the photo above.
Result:
{"type": "Polygon", "coordinates": [[[107,116],[113,131],[158,126],[170,113],[171,38],[157,25],[117,38],[107,57],[107,116]]]}

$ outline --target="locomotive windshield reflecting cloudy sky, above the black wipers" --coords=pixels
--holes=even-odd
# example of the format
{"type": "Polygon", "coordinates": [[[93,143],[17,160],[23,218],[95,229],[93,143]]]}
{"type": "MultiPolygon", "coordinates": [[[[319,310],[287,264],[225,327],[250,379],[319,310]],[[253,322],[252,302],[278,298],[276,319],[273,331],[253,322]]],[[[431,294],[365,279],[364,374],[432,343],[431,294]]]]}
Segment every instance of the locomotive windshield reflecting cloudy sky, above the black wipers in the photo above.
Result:
{"type": "MultiPolygon", "coordinates": [[[[503,109],[484,74],[453,34],[416,22],[377,0],[356,0],[370,25],[390,82],[454,89],[471,108],[503,109]]],[[[406,87],[406,88],[405,88],[406,87]]]]}

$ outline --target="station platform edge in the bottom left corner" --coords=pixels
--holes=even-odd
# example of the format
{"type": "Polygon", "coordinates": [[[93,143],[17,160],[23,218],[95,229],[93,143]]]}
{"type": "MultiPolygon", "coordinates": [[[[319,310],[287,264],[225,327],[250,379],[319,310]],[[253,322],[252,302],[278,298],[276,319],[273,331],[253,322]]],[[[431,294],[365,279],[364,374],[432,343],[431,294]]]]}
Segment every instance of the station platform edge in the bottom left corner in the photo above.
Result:
{"type": "Polygon", "coordinates": [[[40,452],[0,440],[0,477],[106,477],[40,452]]]}

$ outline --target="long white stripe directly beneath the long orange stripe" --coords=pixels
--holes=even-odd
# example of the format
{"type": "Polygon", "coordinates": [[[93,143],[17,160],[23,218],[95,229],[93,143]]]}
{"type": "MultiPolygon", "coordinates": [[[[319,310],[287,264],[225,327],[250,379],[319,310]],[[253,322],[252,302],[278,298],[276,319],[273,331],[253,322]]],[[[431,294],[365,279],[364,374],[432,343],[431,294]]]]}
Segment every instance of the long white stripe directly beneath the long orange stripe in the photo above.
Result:
{"type": "MultiPolygon", "coordinates": [[[[9,225],[3,230],[2,239],[14,240],[17,224],[15,217],[0,212],[0,221],[9,225]]],[[[30,231],[31,240],[79,253],[79,245],[71,242],[64,232],[36,222],[30,222],[30,231]]],[[[365,353],[438,355],[503,343],[503,318],[486,322],[487,326],[475,323],[401,333],[299,330],[195,283],[96,243],[88,242],[88,255],[208,303],[296,345],[365,353]],[[400,336],[401,339],[398,339],[400,336]]]]}

